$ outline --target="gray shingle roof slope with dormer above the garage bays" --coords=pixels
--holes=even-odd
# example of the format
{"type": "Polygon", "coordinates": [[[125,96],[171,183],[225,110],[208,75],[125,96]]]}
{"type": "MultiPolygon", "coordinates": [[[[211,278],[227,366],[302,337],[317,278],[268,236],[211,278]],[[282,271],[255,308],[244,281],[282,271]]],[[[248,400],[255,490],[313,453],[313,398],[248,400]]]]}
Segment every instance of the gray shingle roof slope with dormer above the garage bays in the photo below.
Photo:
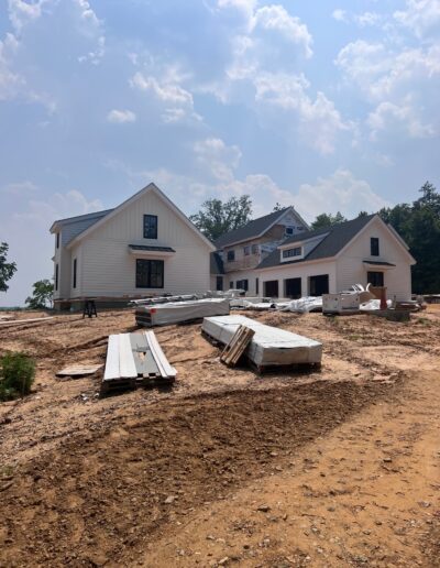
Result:
{"type": "Polygon", "coordinates": [[[296,264],[298,262],[332,258],[338,254],[338,252],[342,250],[345,244],[348,244],[353,237],[355,237],[359,231],[373,219],[373,217],[374,215],[367,215],[366,217],[359,217],[358,219],[342,222],[334,227],[327,227],[326,229],[318,229],[316,231],[304,231],[300,234],[290,237],[283,242],[283,247],[285,244],[294,244],[295,242],[301,242],[314,237],[328,233],[327,237],[324,237],[304,259],[280,262],[279,250],[275,249],[258,264],[257,269],[267,269],[270,266],[278,266],[279,264],[284,266],[285,264],[296,264]]]}

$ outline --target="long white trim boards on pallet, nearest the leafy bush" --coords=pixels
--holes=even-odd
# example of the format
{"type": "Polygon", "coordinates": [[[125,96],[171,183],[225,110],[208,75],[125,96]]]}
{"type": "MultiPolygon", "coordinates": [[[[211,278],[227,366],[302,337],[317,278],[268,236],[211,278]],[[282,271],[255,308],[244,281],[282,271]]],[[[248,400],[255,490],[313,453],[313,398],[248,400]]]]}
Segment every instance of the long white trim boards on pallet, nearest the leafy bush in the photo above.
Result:
{"type": "Polygon", "coordinates": [[[166,384],[177,371],[163,352],[154,331],[109,336],[101,392],[166,384]]]}

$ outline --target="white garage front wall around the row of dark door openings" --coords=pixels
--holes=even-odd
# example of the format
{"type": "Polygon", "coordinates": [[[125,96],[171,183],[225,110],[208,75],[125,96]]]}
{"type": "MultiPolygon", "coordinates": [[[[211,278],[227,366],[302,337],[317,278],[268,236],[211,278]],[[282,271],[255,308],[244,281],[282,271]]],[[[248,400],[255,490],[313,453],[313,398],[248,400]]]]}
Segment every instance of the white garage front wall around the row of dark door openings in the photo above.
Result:
{"type": "Polygon", "coordinates": [[[309,296],[309,276],[319,276],[321,274],[329,275],[329,293],[337,292],[337,263],[332,261],[317,261],[317,262],[299,262],[298,264],[285,264],[255,271],[255,275],[260,275],[260,294],[264,294],[264,282],[277,280],[278,295],[284,297],[284,281],[287,278],[301,278],[301,295],[309,296]]]}

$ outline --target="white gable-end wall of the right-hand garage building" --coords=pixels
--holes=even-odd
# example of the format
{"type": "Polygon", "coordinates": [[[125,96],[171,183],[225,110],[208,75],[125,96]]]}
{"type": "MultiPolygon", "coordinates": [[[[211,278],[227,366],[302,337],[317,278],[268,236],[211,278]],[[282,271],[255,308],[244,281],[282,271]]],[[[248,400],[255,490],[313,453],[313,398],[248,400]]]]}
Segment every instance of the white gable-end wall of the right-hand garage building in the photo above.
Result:
{"type": "Polygon", "coordinates": [[[391,262],[395,267],[384,269],[384,285],[387,287],[387,297],[396,296],[398,301],[411,297],[411,259],[404,247],[391,233],[387,227],[374,219],[364,231],[358,234],[338,258],[337,270],[338,292],[348,290],[352,284],[367,284],[369,271],[382,272],[380,267],[364,264],[364,260],[391,262]],[[380,256],[371,256],[370,239],[380,240],[380,256]]]}

